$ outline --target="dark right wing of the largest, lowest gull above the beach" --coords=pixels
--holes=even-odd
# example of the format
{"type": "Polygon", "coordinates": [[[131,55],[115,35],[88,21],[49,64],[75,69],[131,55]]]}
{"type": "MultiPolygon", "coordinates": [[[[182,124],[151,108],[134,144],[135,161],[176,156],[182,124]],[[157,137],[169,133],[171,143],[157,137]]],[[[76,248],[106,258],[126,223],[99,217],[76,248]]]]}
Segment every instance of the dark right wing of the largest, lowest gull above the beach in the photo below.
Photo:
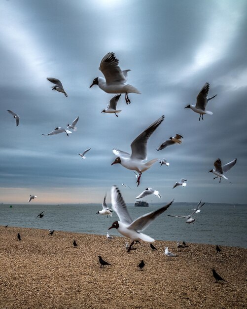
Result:
{"type": "Polygon", "coordinates": [[[156,218],[158,217],[160,214],[162,214],[164,211],[166,211],[170,205],[172,205],[174,199],[166,204],[165,206],[157,209],[157,210],[154,210],[154,211],[151,211],[139,218],[137,218],[135,221],[132,222],[132,224],[129,226],[130,229],[134,229],[138,232],[141,232],[143,230],[145,230],[149,224],[156,218]]]}

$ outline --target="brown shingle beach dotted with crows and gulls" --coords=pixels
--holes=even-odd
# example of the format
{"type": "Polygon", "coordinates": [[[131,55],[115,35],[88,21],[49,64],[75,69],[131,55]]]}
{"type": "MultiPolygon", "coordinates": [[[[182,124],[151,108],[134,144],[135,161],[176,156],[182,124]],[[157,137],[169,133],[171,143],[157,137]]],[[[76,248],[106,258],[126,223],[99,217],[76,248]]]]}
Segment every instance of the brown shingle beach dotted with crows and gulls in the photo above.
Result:
{"type": "Polygon", "coordinates": [[[158,251],[141,242],[128,254],[125,241],[0,226],[0,309],[247,308],[247,249],[156,240],[158,251]],[[226,282],[214,283],[212,268],[226,282]]]}

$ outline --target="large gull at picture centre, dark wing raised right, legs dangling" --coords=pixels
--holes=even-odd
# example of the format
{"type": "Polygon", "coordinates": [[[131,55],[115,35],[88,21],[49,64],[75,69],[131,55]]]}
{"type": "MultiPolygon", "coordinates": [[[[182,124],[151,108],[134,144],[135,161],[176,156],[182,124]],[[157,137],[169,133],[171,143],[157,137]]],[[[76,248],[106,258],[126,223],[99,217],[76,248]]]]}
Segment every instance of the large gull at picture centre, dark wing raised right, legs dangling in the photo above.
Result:
{"type": "Polygon", "coordinates": [[[111,165],[120,163],[125,168],[137,171],[139,176],[137,178],[137,186],[140,184],[141,173],[146,171],[159,159],[152,159],[148,162],[143,162],[147,159],[147,141],[155,129],[161,124],[165,116],[161,116],[154,121],[149,127],[147,127],[140,135],[131,143],[132,153],[128,154],[118,149],[113,149],[113,154],[118,155],[111,165]]]}

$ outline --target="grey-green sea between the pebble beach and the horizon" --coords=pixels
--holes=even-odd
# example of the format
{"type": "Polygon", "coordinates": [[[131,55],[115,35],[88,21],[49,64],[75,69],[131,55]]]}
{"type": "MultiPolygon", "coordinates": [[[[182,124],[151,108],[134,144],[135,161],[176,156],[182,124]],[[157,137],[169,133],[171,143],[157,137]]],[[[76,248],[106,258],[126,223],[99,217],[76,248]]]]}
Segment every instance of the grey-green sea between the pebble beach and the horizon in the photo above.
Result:
{"type": "MultiPolygon", "coordinates": [[[[161,207],[134,207],[128,204],[133,219],[161,207]]],[[[110,204],[108,205],[110,207],[110,204]]],[[[144,233],[156,240],[208,243],[247,248],[247,204],[206,203],[201,212],[194,214],[194,224],[185,223],[185,218],[168,215],[189,215],[196,203],[173,203],[169,209],[152,222],[144,233]]],[[[5,205],[0,204],[0,225],[78,233],[106,234],[112,222],[118,220],[112,212],[108,218],[99,215],[101,204],[61,204],[61,205],[5,205]],[[44,211],[44,217],[35,219],[44,211]]],[[[120,234],[110,230],[111,235],[120,234]]]]}

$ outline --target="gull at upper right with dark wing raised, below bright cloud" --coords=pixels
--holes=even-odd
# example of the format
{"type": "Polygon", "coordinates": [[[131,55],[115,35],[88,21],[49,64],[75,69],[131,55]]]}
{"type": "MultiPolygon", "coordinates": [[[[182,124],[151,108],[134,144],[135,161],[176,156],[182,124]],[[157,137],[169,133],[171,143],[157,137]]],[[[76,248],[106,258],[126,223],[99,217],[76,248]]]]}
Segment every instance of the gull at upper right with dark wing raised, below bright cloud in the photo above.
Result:
{"type": "Polygon", "coordinates": [[[212,112],[206,111],[206,105],[209,102],[209,100],[216,97],[216,94],[212,96],[211,98],[208,98],[209,93],[209,83],[206,82],[206,84],[202,87],[201,91],[198,93],[196,98],[196,105],[189,104],[185,107],[185,109],[191,109],[195,113],[200,114],[199,121],[201,120],[201,117],[203,119],[203,115],[209,114],[212,115],[212,112]]]}

